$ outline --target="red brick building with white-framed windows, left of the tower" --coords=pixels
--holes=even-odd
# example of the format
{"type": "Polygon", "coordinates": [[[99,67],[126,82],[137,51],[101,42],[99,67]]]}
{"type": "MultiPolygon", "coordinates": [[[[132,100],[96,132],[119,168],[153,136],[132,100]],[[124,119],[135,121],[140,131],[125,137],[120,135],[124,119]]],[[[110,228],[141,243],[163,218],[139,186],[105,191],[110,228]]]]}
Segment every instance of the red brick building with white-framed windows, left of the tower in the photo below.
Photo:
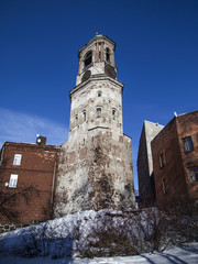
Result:
{"type": "Polygon", "coordinates": [[[54,145],[3,144],[0,153],[1,223],[13,222],[14,216],[20,223],[51,219],[58,151],[54,145]]]}

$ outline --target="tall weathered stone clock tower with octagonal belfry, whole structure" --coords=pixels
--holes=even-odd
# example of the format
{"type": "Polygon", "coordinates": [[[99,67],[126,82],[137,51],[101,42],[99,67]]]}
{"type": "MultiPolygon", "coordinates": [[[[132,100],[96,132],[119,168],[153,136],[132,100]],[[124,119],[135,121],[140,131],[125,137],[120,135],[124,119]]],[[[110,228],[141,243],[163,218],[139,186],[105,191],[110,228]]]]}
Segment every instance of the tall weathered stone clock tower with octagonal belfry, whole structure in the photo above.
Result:
{"type": "Polygon", "coordinates": [[[96,35],[78,54],[68,141],[62,145],[55,216],[135,207],[131,139],[123,134],[116,43],[96,35]]]}

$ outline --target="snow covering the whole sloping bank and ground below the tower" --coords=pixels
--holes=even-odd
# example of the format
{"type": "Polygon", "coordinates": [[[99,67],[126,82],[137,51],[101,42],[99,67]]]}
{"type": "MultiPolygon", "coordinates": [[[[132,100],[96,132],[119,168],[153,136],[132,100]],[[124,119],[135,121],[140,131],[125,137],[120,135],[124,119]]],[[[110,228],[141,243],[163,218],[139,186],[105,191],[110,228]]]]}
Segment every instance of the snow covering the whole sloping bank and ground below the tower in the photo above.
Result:
{"type": "Polygon", "coordinates": [[[158,248],[155,248],[156,243],[152,241],[152,235],[156,231],[154,228],[163,227],[164,219],[164,213],[161,213],[157,209],[142,212],[121,212],[106,209],[68,215],[61,219],[1,234],[0,263],[197,264],[198,243],[183,244],[180,246],[170,245],[167,227],[161,230],[161,232],[163,231],[163,235],[160,237],[162,241],[158,248]],[[106,233],[111,237],[106,235],[106,233]],[[151,241],[144,235],[151,238],[151,241]],[[108,239],[109,243],[107,243],[108,239]],[[122,242],[120,244],[119,239],[122,242]],[[122,256],[118,256],[121,255],[117,251],[120,248],[113,248],[114,242],[121,246],[119,252],[123,253],[122,256]],[[128,243],[133,246],[133,255],[127,251],[124,252],[128,243]],[[111,250],[113,250],[113,254],[109,254],[111,250]],[[100,253],[97,254],[100,257],[91,257],[91,254],[96,255],[97,252],[100,253]],[[109,255],[116,256],[110,257],[109,255]],[[84,256],[84,258],[79,258],[79,256],[84,256]]]}

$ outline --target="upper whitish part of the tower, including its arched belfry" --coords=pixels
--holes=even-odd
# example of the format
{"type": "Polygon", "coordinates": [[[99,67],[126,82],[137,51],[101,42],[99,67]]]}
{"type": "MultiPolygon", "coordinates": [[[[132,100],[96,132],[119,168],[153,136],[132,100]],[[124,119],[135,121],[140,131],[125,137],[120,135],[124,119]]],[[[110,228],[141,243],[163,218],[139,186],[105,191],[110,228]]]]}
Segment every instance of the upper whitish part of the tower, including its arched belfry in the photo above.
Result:
{"type": "Polygon", "coordinates": [[[117,80],[114,51],[116,43],[103,35],[80,48],[76,87],[69,92],[69,140],[87,138],[88,131],[101,128],[113,131],[113,136],[123,133],[123,85],[117,80]]]}

